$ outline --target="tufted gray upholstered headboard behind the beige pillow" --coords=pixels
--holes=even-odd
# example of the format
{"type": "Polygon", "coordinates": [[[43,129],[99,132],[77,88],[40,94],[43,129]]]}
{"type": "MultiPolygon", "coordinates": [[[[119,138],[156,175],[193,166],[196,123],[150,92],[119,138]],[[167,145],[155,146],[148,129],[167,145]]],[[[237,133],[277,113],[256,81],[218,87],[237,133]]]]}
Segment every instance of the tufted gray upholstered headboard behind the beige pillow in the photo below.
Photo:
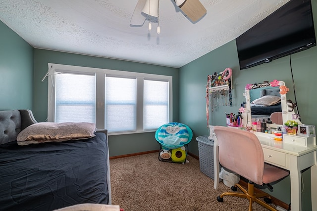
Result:
{"type": "Polygon", "coordinates": [[[37,123],[31,110],[0,111],[0,144],[15,141],[24,128],[37,123]]]}

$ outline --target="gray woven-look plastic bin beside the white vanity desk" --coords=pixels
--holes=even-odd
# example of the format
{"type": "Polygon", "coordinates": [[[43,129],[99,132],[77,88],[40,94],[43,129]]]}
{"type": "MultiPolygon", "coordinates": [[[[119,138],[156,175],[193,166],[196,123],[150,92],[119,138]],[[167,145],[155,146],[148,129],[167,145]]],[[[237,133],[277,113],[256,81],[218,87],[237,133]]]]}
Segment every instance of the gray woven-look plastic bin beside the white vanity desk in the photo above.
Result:
{"type": "MultiPolygon", "coordinates": [[[[213,140],[209,139],[207,135],[199,136],[196,140],[198,142],[200,170],[211,179],[214,179],[213,140]]],[[[220,165],[219,169],[221,169],[220,165]]]]}

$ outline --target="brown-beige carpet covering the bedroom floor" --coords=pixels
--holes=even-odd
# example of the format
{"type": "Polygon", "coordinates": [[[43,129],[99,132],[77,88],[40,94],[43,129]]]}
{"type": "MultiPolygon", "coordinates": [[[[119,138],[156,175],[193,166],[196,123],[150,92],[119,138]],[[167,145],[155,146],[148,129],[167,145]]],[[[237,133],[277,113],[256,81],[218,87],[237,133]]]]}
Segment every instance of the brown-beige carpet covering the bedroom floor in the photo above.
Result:
{"type": "MultiPolygon", "coordinates": [[[[161,162],[158,153],[110,160],[112,204],[124,211],[248,211],[247,199],[225,196],[231,191],[222,182],[213,189],[213,180],[200,171],[199,161],[161,162]]],[[[253,203],[254,211],[267,211],[253,203]]]]}

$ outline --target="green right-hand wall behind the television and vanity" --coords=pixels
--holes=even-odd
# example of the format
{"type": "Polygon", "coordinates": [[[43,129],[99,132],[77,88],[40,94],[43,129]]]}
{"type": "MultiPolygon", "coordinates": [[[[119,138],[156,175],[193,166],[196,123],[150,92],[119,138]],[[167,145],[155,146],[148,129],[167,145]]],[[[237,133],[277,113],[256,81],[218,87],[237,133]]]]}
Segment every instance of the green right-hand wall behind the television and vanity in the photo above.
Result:
{"type": "MultiPolygon", "coordinates": [[[[312,1],[312,4],[314,21],[317,23],[317,2],[312,1]]],[[[316,29],[317,27],[315,27],[316,29]]],[[[315,97],[317,46],[267,64],[240,71],[236,44],[235,41],[231,41],[181,67],[179,72],[179,121],[193,129],[194,137],[189,144],[189,151],[199,155],[196,137],[209,135],[205,98],[208,75],[221,72],[227,67],[233,70],[233,106],[220,106],[216,111],[210,112],[211,125],[225,126],[225,112],[235,114],[238,112],[240,104],[245,100],[243,92],[246,84],[261,83],[274,79],[284,81],[290,89],[287,98],[295,102],[290,59],[301,120],[307,125],[317,125],[317,112],[315,111],[317,105],[317,98],[315,97]]],[[[303,172],[302,176],[304,184],[302,194],[303,211],[310,211],[312,209],[310,170],[303,172]]],[[[289,185],[290,178],[288,176],[273,185],[274,190],[271,195],[289,204],[289,185]]],[[[267,189],[264,189],[264,191],[267,191],[267,189]]]]}

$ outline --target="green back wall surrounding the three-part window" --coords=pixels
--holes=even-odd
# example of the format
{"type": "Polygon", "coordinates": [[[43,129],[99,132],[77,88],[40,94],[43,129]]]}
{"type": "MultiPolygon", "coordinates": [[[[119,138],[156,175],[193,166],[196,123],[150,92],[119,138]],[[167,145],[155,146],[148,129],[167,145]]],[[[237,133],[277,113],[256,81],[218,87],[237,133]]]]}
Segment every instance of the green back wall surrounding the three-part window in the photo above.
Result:
{"type": "MultiPolygon", "coordinates": [[[[34,97],[33,114],[37,121],[47,119],[48,110],[48,78],[41,82],[48,71],[48,63],[76,65],[83,67],[104,68],[121,71],[152,73],[173,77],[173,121],[178,121],[178,69],[136,62],[107,59],[51,50],[34,50],[34,97]]],[[[155,133],[137,133],[128,135],[109,136],[109,155],[118,156],[158,150],[159,144],[155,140],[155,133]]]]}

